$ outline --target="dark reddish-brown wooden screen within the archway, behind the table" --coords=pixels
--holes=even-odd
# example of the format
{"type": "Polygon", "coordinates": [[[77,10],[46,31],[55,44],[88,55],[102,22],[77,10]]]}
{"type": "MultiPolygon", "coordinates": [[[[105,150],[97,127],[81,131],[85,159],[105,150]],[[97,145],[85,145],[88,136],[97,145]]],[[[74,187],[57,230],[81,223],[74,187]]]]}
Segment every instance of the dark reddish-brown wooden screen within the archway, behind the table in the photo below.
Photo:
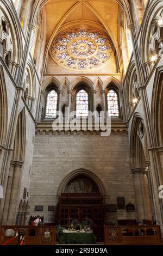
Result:
{"type": "Polygon", "coordinates": [[[63,227],[73,219],[80,223],[91,219],[98,241],[104,237],[104,199],[101,193],[62,193],[59,198],[58,222],[63,227]]]}

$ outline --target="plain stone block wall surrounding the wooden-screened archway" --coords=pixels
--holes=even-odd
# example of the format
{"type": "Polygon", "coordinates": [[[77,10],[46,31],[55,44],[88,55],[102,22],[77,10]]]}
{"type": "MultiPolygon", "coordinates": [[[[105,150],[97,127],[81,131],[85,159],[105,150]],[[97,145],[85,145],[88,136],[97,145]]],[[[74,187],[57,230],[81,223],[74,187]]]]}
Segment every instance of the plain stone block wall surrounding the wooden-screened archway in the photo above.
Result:
{"type": "MultiPolygon", "coordinates": [[[[134,204],[133,174],[129,164],[129,141],[126,132],[101,137],[86,134],[38,133],[35,137],[34,157],[30,180],[29,216],[43,215],[45,222],[54,221],[48,205],[57,205],[58,188],[67,174],[77,169],[95,173],[105,191],[105,204],[116,204],[117,197],[125,197],[126,204],[134,204]],[[43,212],[35,212],[35,205],[43,205],[43,212]]],[[[118,210],[106,216],[106,222],[118,218],[135,218],[135,212],[118,210]]],[[[27,218],[27,222],[29,218],[27,218]]]]}

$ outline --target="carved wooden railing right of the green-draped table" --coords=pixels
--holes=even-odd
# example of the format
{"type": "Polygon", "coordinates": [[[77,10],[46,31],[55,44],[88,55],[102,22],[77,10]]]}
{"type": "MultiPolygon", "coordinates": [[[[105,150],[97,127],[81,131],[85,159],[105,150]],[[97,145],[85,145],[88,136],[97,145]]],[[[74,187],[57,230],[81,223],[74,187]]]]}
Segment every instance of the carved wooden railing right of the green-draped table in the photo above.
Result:
{"type": "Polygon", "coordinates": [[[162,245],[160,226],[105,226],[105,245],[162,245]]]}

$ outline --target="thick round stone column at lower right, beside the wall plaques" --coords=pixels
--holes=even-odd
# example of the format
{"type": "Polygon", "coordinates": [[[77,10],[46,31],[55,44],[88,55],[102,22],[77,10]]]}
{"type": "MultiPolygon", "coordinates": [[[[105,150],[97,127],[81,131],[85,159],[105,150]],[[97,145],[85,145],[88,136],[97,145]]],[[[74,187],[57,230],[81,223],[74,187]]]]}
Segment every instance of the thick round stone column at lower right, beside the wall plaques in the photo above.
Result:
{"type": "Polygon", "coordinates": [[[132,169],[135,186],[137,221],[152,220],[151,200],[149,197],[148,172],[144,167],[132,169]]]}

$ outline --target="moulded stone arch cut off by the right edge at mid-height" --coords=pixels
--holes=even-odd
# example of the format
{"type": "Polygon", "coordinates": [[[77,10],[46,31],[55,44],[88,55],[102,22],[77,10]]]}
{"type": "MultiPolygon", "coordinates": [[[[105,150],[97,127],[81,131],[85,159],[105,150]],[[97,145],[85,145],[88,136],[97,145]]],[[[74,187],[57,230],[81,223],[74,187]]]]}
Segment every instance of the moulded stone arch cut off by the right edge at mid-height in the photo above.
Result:
{"type": "Polygon", "coordinates": [[[152,129],[155,136],[156,147],[163,145],[163,69],[156,70],[151,104],[152,129]]]}

